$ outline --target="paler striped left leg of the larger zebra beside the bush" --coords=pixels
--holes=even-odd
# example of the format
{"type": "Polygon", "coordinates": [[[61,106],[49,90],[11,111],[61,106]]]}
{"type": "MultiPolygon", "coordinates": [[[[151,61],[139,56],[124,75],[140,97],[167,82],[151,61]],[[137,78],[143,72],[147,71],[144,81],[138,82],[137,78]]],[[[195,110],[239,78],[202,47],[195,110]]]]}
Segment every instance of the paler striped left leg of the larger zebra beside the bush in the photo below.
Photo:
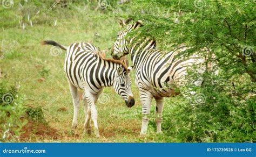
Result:
{"type": "Polygon", "coordinates": [[[152,103],[152,94],[149,91],[139,91],[140,102],[142,102],[142,129],[140,130],[140,136],[146,135],[147,125],[149,125],[149,115],[152,103]]]}

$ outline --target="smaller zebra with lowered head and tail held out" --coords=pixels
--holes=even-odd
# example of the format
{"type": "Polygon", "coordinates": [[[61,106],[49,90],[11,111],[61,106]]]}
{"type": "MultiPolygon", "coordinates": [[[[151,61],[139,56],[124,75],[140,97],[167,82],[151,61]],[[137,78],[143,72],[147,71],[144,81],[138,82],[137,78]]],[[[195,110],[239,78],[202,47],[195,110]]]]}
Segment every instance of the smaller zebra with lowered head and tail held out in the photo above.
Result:
{"type": "Polygon", "coordinates": [[[75,42],[67,48],[55,41],[42,41],[42,44],[57,46],[66,51],[64,72],[73,99],[73,129],[78,125],[78,89],[84,91],[83,102],[86,116],[83,128],[87,134],[91,134],[90,119],[92,118],[96,137],[99,137],[99,130],[95,104],[104,87],[113,86],[117,94],[124,99],[127,107],[131,108],[134,105],[135,101],[131,91],[131,67],[127,68],[118,60],[102,58],[98,49],[90,43],[75,42]]]}

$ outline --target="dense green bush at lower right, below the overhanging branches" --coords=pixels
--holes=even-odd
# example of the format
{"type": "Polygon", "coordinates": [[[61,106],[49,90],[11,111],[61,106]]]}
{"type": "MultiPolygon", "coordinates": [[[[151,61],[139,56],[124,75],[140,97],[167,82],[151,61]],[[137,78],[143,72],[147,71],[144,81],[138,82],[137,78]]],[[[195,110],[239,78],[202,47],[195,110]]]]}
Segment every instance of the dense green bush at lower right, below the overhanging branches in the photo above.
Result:
{"type": "Polygon", "coordinates": [[[255,142],[253,85],[240,82],[233,87],[232,82],[220,77],[212,84],[212,79],[207,81],[205,76],[202,87],[187,84],[185,89],[196,91],[194,102],[181,97],[183,102],[170,101],[165,105],[163,129],[167,136],[179,142],[255,142]]]}

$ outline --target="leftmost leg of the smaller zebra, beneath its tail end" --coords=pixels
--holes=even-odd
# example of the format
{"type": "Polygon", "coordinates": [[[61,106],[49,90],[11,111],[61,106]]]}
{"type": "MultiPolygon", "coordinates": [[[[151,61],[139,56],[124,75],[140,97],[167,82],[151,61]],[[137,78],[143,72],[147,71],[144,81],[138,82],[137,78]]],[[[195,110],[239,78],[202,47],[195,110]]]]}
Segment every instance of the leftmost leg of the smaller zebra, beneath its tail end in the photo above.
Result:
{"type": "Polygon", "coordinates": [[[78,115],[78,109],[79,109],[79,97],[78,97],[77,88],[71,82],[69,82],[69,89],[70,89],[70,93],[72,95],[73,106],[74,106],[72,128],[76,129],[77,124],[78,124],[77,123],[77,115],[78,115]]]}

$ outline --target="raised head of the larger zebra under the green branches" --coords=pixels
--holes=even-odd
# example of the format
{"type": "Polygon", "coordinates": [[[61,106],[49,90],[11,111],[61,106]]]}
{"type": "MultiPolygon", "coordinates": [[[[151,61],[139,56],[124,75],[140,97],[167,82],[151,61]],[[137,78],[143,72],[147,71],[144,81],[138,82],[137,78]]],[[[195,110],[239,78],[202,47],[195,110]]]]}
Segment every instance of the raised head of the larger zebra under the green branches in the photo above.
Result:
{"type": "Polygon", "coordinates": [[[122,19],[118,19],[118,23],[120,26],[123,27],[123,30],[118,32],[117,40],[114,42],[111,53],[113,59],[119,60],[120,58],[122,58],[122,56],[129,54],[129,41],[125,39],[125,36],[133,29],[143,26],[142,21],[140,20],[133,24],[129,24],[130,21],[131,19],[127,19],[125,21],[123,21],[122,19]]]}

